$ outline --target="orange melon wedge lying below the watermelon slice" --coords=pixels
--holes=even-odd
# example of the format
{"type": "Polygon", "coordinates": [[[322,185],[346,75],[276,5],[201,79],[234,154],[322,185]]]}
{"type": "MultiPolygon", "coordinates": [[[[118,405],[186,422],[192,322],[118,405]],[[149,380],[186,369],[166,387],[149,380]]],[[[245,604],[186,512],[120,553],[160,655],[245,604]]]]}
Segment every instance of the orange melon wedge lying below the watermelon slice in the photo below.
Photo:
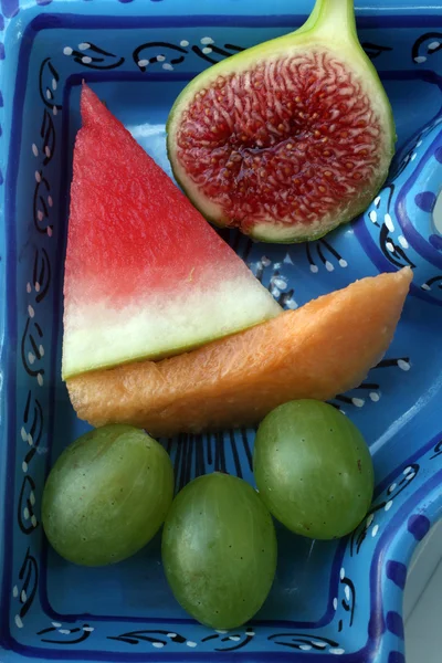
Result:
{"type": "Polygon", "coordinates": [[[67,380],[72,403],[93,425],[159,436],[251,425],[293,399],[328,400],[382,358],[411,278],[410,269],[362,278],[191,352],[77,376],[67,380]]]}

